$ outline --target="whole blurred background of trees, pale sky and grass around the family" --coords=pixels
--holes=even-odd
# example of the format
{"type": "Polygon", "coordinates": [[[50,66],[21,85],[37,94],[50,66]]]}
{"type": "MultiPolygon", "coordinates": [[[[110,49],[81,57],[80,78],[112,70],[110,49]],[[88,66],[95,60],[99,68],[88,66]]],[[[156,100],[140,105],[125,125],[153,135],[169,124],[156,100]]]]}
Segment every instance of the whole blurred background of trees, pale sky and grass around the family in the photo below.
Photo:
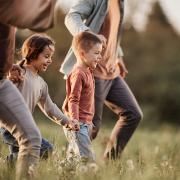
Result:
{"type": "MultiPolygon", "coordinates": [[[[59,0],[57,24],[48,33],[56,41],[52,65],[41,75],[50,96],[61,108],[65,81],[59,68],[71,45],[72,36],[64,25],[65,13],[75,0],[59,0]]],[[[59,165],[65,157],[66,140],[61,127],[38,110],[35,120],[42,136],[54,144],[53,156],[40,162],[37,179],[64,180],[178,180],[180,177],[180,0],[126,0],[121,46],[129,70],[126,81],[144,113],[144,120],[116,162],[80,176],[59,165]]],[[[31,32],[18,30],[16,49],[31,32]]],[[[20,59],[18,54],[16,59],[20,59]]],[[[98,163],[117,117],[104,110],[103,127],[93,141],[98,163]]],[[[14,179],[4,166],[8,148],[0,142],[0,179],[14,179]],[[12,178],[10,178],[12,177],[12,178]]]]}

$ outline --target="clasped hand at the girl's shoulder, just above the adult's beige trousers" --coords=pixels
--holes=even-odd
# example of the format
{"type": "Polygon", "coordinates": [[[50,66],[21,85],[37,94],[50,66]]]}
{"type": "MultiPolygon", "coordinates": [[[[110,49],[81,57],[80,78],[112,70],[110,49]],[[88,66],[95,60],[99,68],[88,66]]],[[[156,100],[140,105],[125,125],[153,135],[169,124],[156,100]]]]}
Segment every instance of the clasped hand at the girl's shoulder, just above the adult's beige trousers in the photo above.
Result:
{"type": "Polygon", "coordinates": [[[19,84],[24,80],[24,70],[17,64],[13,64],[8,74],[8,79],[19,84]]]}

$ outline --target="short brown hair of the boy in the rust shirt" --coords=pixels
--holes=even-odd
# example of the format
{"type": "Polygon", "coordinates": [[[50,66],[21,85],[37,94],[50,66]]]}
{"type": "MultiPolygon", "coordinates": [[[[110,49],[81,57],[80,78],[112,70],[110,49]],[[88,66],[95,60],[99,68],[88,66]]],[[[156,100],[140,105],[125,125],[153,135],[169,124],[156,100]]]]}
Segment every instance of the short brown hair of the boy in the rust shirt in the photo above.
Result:
{"type": "Polygon", "coordinates": [[[102,43],[101,39],[97,35],[84,31],[73,38],[72,48],[75,53],[78,53],[80,50],[88,52],[93,45],[97,43],[102,43]]]}

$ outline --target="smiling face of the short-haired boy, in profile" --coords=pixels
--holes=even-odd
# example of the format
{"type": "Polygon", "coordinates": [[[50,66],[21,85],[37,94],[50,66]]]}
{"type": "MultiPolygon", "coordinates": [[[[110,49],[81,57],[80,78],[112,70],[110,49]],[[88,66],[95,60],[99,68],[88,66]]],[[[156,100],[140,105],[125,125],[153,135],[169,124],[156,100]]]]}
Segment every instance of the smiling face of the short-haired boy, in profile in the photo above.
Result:
{"type": "Polygon", "coordinates": [[[92,46],[91,49],[88,50],[88,52],[82,51],[82,60],[84,64],[89,67],[90,69],[95,69],[97,66],[97,63],[101,60],[102,56],[102,44],[96,43],[92,46]]]}

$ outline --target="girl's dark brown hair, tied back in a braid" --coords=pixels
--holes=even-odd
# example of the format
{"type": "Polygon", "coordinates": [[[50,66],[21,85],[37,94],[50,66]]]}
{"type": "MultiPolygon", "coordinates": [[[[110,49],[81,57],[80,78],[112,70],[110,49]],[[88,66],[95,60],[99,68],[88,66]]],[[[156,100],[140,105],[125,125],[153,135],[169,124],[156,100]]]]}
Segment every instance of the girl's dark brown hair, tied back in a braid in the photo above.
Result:
{"type": "Polygon", "coordinates": [[[28,37],[21,48],[22,61],[20,66],[26,62],[29,64],[33,59],[37,59],[40,53],[43,52],[45,46],[55,45],[51,37],[46,34],[33,34],[28,37]]]}

